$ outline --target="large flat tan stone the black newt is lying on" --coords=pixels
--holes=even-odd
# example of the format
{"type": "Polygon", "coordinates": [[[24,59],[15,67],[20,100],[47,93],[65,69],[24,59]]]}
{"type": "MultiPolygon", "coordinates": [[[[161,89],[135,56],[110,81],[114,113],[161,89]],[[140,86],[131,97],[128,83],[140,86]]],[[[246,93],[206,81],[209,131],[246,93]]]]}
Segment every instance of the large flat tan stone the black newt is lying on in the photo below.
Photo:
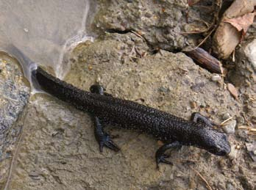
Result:
{"type": "MultiPolygon", "coordinates": [[[[200,111],[220,122],[223,114],[239,112],[227,89],[211,80],[213,74],[182,53],[150,55],[146,43],[132,33],[107,34],[95,43],[81,44],[74,50],[72,62],[65,81],[81,89],[99,81],[116,97],[185,119],[200,111]],[[194,109],[191,101],[196,102],[194,109]]],[[[223,158],[196,147],[182,147],[171,151],[174,166],[161,164],[157,171],[157,139],[137,131],[111,127],[107,131],[119,136],[114,140],[121,152],[104,149],[99,153],[88,114],[49,95],[35,95],[24,120],[10,189],[207,189],[193,169],[213,189],[231,185],[243,189],[253,184],[243,160],[248,156],[246,150],[235,150],[235,157],[223,158]],[[243,173],[238,172],[240,166],[243,173]]],[[[229,139],[235,147],[235,136],[229,139]]]]}

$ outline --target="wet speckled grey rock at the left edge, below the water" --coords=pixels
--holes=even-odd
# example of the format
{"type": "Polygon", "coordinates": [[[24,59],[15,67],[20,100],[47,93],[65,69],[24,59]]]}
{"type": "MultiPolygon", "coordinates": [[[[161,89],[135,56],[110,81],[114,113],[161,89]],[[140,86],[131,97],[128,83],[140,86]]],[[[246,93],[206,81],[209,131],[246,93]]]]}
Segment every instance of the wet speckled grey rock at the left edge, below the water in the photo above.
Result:
{"type": "Polygon", "coordinates": [[[27,86],[18,62],[0,52],[0,189],[7,179],[15,142],[22,125],[15,125],[29,99],[27,86]]]}

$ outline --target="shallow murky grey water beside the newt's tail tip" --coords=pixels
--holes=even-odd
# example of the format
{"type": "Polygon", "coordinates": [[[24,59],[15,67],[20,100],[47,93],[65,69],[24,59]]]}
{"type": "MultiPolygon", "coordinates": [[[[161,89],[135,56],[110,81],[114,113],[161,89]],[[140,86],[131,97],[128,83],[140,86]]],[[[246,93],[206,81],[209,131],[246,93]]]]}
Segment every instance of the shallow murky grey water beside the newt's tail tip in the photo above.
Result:
{"type": "Polygon", "coordinates": [[[53,67],[59,78],[68,70],[71,48],[92,40],[85,27],[88,0],[0,0],[0,8],[0,49],[15,56],[15,45],[38,65],[53,67]]]}

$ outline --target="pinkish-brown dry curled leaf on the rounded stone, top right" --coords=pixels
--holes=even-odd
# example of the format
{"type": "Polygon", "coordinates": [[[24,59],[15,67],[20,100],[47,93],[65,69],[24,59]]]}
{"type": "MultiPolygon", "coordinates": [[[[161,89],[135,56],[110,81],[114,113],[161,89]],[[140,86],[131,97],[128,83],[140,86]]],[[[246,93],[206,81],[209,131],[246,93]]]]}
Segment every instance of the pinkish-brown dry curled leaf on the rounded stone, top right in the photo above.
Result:
{"type": "Polygon", "coordinates": [[[249,26],[252,25],[254,18],[255,18],[255,12],[248,13],[246,15],[236,17],[236,18],[225,19],[224,22],[230,23],[239,32],[243,31],[243,34],[245,34],[247,32],[249,26]]]}

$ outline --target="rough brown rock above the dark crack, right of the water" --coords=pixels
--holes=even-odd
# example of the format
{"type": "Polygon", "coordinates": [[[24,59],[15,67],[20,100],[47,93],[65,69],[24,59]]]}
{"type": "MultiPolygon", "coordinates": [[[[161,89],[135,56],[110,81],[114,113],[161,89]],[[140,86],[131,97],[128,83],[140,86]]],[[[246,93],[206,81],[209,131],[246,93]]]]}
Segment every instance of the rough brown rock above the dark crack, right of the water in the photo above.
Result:
{"type": "Polygon", "coordinates": [[[197,6],[188,7],[187,1],[97,1],[99,11],[93,21],[96,31],[109,29],[115,32],[135,31],[145,37],[152,50],[162,48],[177,51],[198,43],[202,36],[194,31],[205,31],[205,22],[213,21],[208,10],[213,9],[213,1],[202,1],[197,6]],[[189,13],[188,13],[189,12],[189,13]],[[192,34],[190,34],[190,32],[192,34]]]}

